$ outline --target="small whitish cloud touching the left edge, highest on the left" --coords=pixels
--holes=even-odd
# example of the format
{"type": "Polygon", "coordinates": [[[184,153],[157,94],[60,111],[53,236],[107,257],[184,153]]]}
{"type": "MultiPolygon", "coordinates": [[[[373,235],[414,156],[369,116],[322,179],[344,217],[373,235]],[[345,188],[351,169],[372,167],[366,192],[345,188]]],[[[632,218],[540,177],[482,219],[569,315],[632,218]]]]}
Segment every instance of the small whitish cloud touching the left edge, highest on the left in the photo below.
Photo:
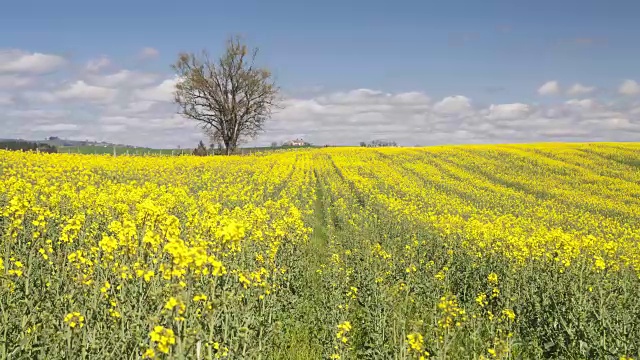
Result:
{"type": "Polygon", "coordinates": [[[58,55],[0,50],[0,74],[45,74],[66,64],[67,60],[58,55]]]}

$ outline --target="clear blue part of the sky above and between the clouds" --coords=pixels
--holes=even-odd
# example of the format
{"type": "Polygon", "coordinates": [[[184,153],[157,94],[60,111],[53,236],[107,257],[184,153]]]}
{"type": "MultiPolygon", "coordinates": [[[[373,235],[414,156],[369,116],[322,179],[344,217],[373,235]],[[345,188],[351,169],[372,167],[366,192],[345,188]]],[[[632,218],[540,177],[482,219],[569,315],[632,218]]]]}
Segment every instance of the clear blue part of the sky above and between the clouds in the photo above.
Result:
{"type": "MultiPolygon", "coordinates": [[[[609,106],[600,110],[636,125],[635,88],[621,94],[620,87],[640,79],[637,14],[640,2],[622,0],[19,1],[3,4],[0,49],[64,57],[64,69],[40,76],[65,86],[82,78],[83,64],[101,56],[111,66],[104,75],[124,69],[170,77],[169,64],[179,51],[207,48],[215,54],[228,35],[242,34],[261,48],[260,60],[295,99],[324,97],[322,103],[335,94],[348,99],[357,89],[391,96],[420,92],[432,105],[464,96],[472,100],[476,117],[486,117],[482,111],[492,104],[513,103],[535,107],[527,116],[547,116],[543,112],[549,109],[540,107],[565,104],[573,97],[559,95],[582,84],[593,88],[590,100],[609,106]],[[140,56],[145,47],[157,55],[140,56]],[[538,92],[547,81],[560,85],[555,96],[538,92]]],[[[22,103],[22,108],[38,106],[22,103]]],[[[309,116],[306,111],[300,115],[309,116]]],[[[78,116],[76,108],[72,112],[78,116]]],[[[276,137],[313,137],[303,130],[276,137]]],[[[635,139],[624,137],[629,138],[635,139]]]]}

